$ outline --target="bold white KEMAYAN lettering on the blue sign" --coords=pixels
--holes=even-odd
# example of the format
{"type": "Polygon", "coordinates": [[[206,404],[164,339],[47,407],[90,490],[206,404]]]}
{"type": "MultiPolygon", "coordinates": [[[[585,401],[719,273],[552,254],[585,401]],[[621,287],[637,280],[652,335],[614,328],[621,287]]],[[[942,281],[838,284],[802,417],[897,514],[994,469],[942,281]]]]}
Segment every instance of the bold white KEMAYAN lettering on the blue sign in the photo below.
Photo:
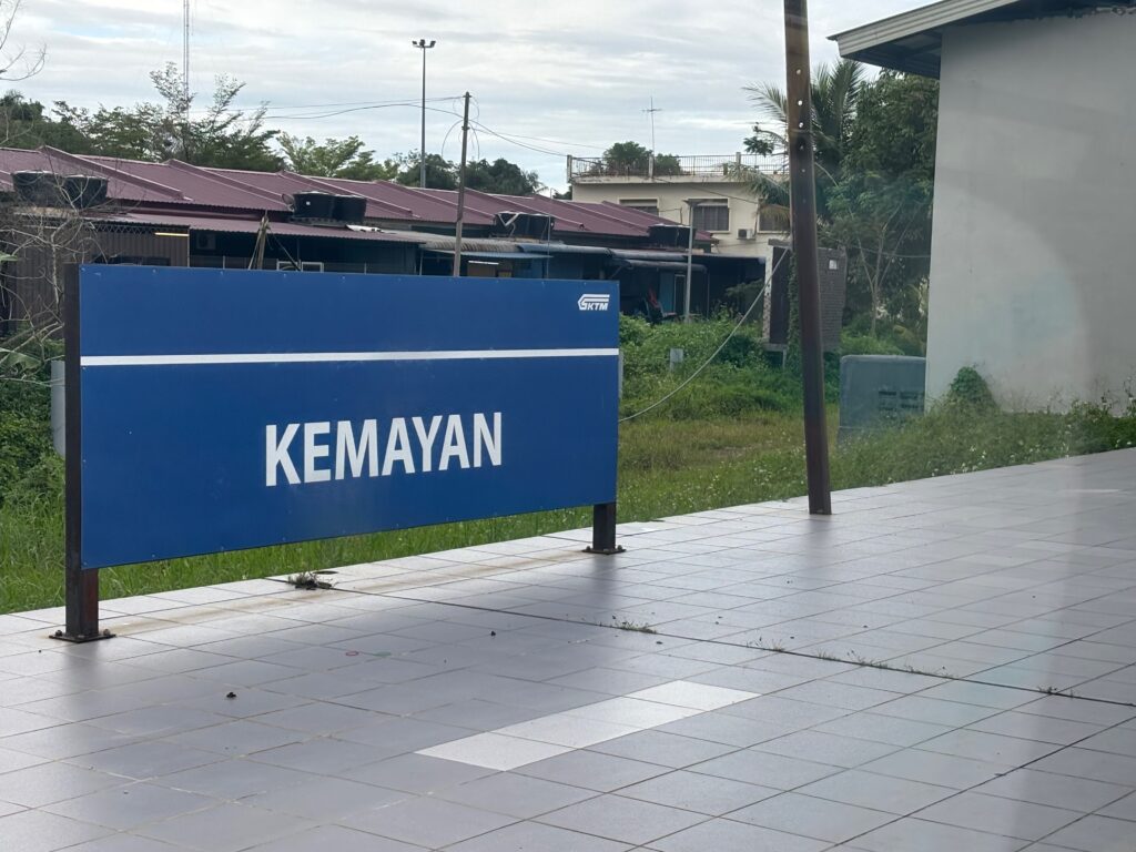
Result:
{"type": "Polygon", "coordinates": [[[501,466],[501,412],[265,427],[265,485],[501,466]],[[379,452],[379,446],[383,450],[379,452]]]}

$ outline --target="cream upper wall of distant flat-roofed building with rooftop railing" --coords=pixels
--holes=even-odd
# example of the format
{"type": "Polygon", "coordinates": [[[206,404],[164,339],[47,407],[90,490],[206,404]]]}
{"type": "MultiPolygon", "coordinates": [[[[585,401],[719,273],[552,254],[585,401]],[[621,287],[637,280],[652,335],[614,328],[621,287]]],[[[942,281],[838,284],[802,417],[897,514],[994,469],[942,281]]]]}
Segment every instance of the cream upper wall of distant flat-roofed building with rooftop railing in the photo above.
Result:
{"type": "Polygon", "coordinates": [[[737,181],[588,177],[578,178],[573,183],[571,197],[574,201],[610,201],[615,204],[633,199],[658,199],[659,216],[679,225],[687,224],[687,199],[725,201],[729,206],[729,229],[711,233],[718,240],[715,250],[728,254],[767,257],[769,240],[780,236],[777,233],[758,232],[760,227],[758,199],[750,193],[746,184],[737,181]],[[753,232],[755,236],[747,240],[738,239],[737,232],[742,228],[753,232]]]}

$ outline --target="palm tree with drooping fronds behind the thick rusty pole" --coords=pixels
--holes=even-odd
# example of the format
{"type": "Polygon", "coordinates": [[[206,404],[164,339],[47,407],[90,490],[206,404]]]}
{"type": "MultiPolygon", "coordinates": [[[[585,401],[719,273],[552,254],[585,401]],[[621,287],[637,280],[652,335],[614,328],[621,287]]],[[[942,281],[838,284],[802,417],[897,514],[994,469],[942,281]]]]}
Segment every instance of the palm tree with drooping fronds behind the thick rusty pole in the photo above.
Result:
{"type": "MultiPolygon", "coordinates": [[[[864,68],[852,59],[836,65],[820,65],[812,76],[812,136],[817,164],[817,215],[828,219],[828,190],[840,179],[855,126],[857,102],[864,82],[864,68]]],[[[788,157],[788,100],[771,83],[746,86],[750,99],[761,109],[766,122],[753,125],[745,141],[751,153],[788,157]]],[[[761,199],[763,215],[780,220],[788,229],[788,179],[784,174],[755,173],[751,191],[761,199]]]]}

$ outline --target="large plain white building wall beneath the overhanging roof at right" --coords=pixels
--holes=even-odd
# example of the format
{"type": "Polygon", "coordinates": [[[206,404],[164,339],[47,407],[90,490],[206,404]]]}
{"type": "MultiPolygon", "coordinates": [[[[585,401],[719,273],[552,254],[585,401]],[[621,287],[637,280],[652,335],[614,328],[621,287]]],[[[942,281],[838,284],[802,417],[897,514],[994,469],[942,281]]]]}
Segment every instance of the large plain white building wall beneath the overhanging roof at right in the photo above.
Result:
{"type": "Polygon", "coordinates": [[[927,393],[1017,409],[1136,377],[1136,16],[947,31],[927,393]]]}

